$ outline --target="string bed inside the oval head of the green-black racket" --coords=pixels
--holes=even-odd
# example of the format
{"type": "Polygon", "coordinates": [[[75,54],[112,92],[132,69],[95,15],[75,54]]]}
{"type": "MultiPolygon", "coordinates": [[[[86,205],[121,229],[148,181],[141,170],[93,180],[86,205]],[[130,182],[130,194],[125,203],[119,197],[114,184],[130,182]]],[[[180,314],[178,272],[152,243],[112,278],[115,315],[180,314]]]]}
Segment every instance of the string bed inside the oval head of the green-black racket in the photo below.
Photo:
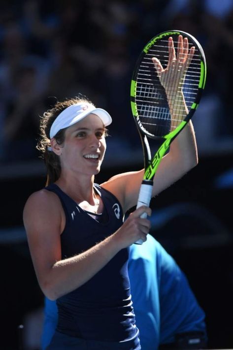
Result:
{"type": "MultiPolygon", "coordinates": [[[[178,41],[173,39],[174,49],[177,52],[178,41]]],[[[195,46],[192,43],[189,45],[195,46]]],[[[189,55],[189,54],[188,54],[189,55]]],[[[160,45],[154,45],[144,56],[137,72],[136,98],[138,119],[148,133],[155,136],[164,136],[175,129],[187,116],[184,110],[183,96],[187,109],[190,110],[195,102],[200,81],[200,57],[195,50],[191,62],[176,65],[173,81],[167,74],[163,81],[156,72],[152,58],[160,60],[164,69],[168,64],[167,40],[161,40],[160,45]],[[164,43],[164,45],[163,45],[164,43]],[[156,46],[156,47],[155,47],[156,46]],[[174,81],[178,85],[174,86],[174,81]],[[166,91],[164,86],[166,86],[166,91]],[[172,110],[168,101],[172,100],[172,110]]]]}

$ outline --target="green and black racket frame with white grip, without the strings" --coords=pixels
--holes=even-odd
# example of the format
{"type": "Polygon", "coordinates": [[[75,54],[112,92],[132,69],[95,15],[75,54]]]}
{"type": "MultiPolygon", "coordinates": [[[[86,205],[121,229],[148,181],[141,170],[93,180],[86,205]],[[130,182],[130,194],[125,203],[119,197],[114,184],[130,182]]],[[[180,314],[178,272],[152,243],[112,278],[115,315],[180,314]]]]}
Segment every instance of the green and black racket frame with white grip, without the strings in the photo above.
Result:
{"type": "MultiPolygon", "coordinates": [[[[195,49],[195,51],[196,51],[195,49]]],[[[141,54],[139,55],[137,62],[135,64],[135,69],[133,71],[133,77],[131,81],[131,109],[134,117],[134,121],[136,123],[140,138],[141,138],[141,143],[142,143],[142,148],[143,148],[143,155],[144,155],[144,176],[142,180],[142,184],[140,187],[139,191],[139,196],[138,196],[138,201],[137,201],[137,206],[136,208],[139,208],[142,205],[149,206],[150,205],[150,200],[152,196],[152,189],[153,189],[153,179],[156,174],[156,171],[159,167],[159,164],[161,162],[161,159],[164,157],[166,154],[171,142],[175,139],[175,137],[182,131],[182,129],[187,125],[187,123],[191,120],[193,117],[196,109],[199,106],[200,102],[200,97],[202,94],[202,91],[205,86],[205,81],[206,81],[206,63],[205,63],[205,56],[203,49],[200,45],[200,43],[197,41],[197,39],[190,35],[187,32],[183,31],[168,31],[168,32],[162,32],[156,36],[154,36],[143,48],[141,54]],[[195,44],[195,47],[197,47],[197,51],[199,52],[200,56],[200,80],[199,80],[199,86],[198,86],[198,92],[195,98],[195,102],[192,103],[189,113],[185,117],[183,121],[179,124],[178,127],[176,127],[174,130],[171,132],[167,133],[164,136],[158,137],[154,136],[153,134],[149,133],[141,124],[138,116],[138,111],[137,111],[137,106],[135,102],[135,97],[136,97],[136,88],[137,88],[137,72],[138,72],[138,67],[140,66],[140,63],[143,59],[143,57],[149,52],[150,48],[160,39],[162,38],[168,38],[171,35],[182,35],[183,37],[187,37],[189,41],[195,44]],[[148,139],[159,139],[163,140],[164,142],[161,144],[159,147],[158,151],[155,153],[154,157],[151,158],[151,151],[150,151],[150,146],[148,139]]],[[[146,218],[147,215],[145,213],[142,214],[141,218],[146,218]]],[[[136,244],[142,244],[142,240],[138,240],[135,242],[136,244]]]]}

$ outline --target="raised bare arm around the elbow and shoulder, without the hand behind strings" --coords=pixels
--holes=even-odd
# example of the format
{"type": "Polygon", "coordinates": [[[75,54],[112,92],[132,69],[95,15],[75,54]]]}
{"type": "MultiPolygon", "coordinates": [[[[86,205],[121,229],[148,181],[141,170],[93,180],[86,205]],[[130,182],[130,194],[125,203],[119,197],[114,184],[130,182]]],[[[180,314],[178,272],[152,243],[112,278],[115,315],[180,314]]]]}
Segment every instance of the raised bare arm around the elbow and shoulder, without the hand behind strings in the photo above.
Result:
{"type": "MultiPolygon", "coordinates": [[[[154,177],[152,196],[171,186],[198,163],[197,145],[191,122],[171,143],[154,177]]],[[[137,204],[144,169],[112,177],[101,186],[112,192],[121,202],[124,212],[137,204]]]]}

